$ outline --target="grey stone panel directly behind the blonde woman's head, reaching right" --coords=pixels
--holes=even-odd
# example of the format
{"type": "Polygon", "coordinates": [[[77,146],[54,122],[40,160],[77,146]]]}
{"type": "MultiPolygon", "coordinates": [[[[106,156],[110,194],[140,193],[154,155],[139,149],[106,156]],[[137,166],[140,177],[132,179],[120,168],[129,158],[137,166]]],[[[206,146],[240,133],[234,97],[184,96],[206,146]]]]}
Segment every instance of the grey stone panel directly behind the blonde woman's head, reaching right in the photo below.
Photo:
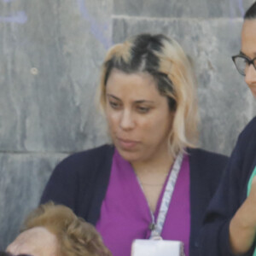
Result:
{"type": "MultiPolygon", "coordinates": [[[[240,50],[241,19],[113,20],[113,42],[141,32],[164,33],[179,42],[195,62],[201,113],[201,146],[230,154],[255,106],[230,56],[240,50]]],[[[255,111],[254,111],[255,113],[255,111]]]]}

